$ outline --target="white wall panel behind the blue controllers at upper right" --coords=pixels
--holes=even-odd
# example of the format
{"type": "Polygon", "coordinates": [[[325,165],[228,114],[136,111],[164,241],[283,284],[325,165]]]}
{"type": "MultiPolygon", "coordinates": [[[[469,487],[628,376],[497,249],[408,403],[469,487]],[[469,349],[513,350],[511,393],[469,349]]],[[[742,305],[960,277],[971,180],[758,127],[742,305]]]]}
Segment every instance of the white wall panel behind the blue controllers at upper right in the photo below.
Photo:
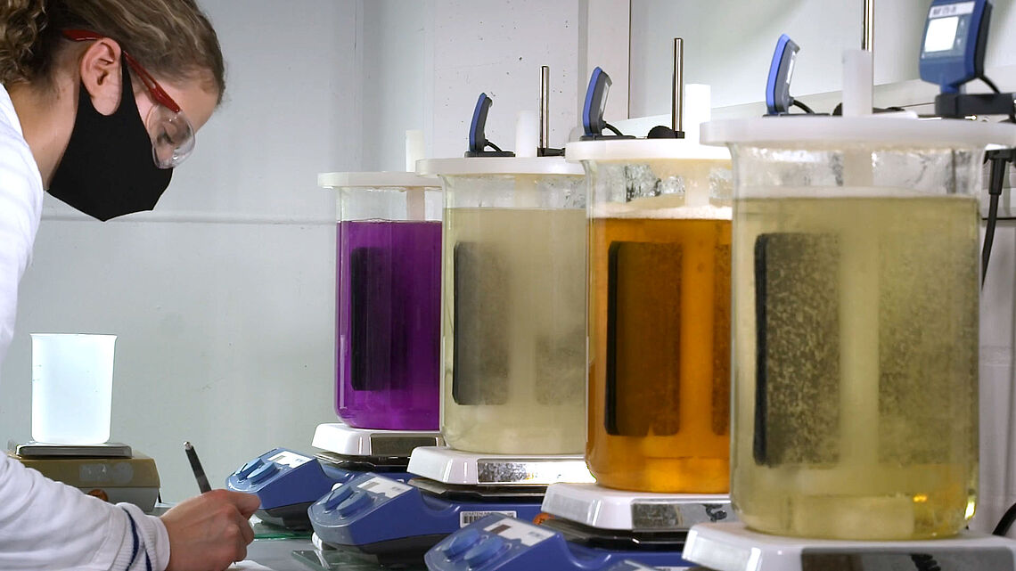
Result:
{"type": "MultiPolygon", "coordinates": [[[[875,2],[875,82],[917,77],[917,50],[929,0],[875,2]]],[[[1008,12],[1011,0],[1000,0],[1008,12]]],[[[841,87],[840,57],[860,48],[861,0],[632,0],[632,117],[671,112],[672,41],[685,39],[689,83],[712,85],[715,107],[765,99],[766,74],[780,34],[801,46],[791,93],[841,87]]],[[[1010,14],[1006,14],[1009,17],[1010,14]]],[[[1003,17],[996,18],[1001,29],[1003,17]]],[[[1002,46],[992,43],[989,65],[1002,46]]],[[[807,101],[806,101],[807,103],[807,101]]]]}

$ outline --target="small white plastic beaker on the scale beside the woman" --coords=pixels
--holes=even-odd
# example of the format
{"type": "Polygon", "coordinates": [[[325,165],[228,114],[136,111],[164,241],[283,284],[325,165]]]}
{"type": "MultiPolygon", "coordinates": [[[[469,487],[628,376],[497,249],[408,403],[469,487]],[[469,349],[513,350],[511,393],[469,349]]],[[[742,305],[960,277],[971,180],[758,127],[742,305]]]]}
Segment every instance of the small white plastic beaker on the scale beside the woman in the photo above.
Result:
{"type": "Polygon", "coordinates": [[[52,444],[110,439],[116,335],[31,334],[31,438],[52,444]]]}

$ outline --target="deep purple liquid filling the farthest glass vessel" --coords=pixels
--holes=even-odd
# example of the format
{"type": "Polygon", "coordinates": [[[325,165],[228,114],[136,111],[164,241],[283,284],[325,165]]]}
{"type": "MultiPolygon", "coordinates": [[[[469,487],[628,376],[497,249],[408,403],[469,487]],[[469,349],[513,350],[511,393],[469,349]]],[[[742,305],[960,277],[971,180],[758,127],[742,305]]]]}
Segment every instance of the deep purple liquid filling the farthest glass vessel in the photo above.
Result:
{"type": "Polygon", "coordinates": [[[335,411],[352,427],[438,430],[441,223],[338,223],[335,411]]]}

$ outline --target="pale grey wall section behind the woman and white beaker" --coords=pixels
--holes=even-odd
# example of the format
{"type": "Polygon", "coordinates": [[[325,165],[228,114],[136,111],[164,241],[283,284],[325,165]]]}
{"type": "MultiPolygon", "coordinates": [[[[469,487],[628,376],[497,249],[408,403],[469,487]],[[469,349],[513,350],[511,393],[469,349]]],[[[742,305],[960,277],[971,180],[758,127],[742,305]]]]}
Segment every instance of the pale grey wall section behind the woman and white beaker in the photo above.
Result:
{"type": "Polygon", "coordinates": [[[29,332],[120,335],[113,438],[196,493],[332,410],[334,205],[322,171],[360,163],[352,0],[203,0],[228,94],[153,213],[101,224],[47,198],[3,365],[0,435],[29,436],[29,332]]]}

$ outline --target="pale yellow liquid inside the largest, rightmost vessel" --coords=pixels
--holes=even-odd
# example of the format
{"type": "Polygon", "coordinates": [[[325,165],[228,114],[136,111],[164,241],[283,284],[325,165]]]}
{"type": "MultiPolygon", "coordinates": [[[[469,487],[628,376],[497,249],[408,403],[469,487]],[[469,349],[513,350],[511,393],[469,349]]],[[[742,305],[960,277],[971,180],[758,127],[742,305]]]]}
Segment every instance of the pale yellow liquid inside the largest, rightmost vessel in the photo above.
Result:
{"type": "Polygon", "coordinates": [[[735,203],[732,494],[749,526],[916,540],[965,525],[977,224],[968,196],[735,203]]]}

